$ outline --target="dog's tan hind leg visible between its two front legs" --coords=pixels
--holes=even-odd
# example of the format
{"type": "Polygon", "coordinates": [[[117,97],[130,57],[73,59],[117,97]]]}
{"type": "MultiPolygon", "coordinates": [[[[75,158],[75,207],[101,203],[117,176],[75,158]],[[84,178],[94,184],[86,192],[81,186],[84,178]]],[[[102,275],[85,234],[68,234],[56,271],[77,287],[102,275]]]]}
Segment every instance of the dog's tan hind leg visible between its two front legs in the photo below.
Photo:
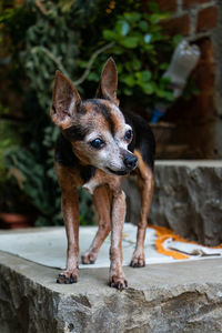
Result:
{"type": "Polygon", "coordinates": [[[110,193],[107,186],[98,188],[93,194],[93,202],[99,214],[99,229],[89,250],[82,255],[83,264],[95,262],[98,252],[111,230],[110,193]]]}

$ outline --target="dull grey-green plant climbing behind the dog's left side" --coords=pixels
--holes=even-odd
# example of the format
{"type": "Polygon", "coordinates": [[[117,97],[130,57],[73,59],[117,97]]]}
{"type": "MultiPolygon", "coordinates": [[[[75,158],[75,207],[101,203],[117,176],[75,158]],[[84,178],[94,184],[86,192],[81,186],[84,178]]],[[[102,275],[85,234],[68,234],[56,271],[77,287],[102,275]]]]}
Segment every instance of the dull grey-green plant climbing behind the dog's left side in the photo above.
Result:
{"type": "MultiPolygon", "coordinates": [[[[89,4],[87,2],[85,8],[89,4]]],[[[29,84],[24,85],[26,102],[22,107],[26,123],[22,127],[21,144],[7,149],[4,161],[11,183],[19,184],[20,191],[26,193],[38,211],[37,225],[60,224],[61,193],[53,172],[53,150],[59,131],[49,118],[51,90],[54,71],[61,59],[69,73],[73,72],[75,65],[79,32],[72,29],[71,14],[74,13],[74,24],[82,26],[90,12],[83,10],[80,1],[75,1],[71,13],[64,11],[63,16],[63,1],[44,1],[41,8],[36,6],[36,1],[28,1],[28,4],[31,13],[36,11],[34,20],[28,31],[23,31],[23,36],[27,36],[23,62],[17,62],[19,70],[29,79],[29,84]]],[[[80,192],[80,210],[81,223],[85,223],[85,219],[92,223],[88,193],[80,192]]]]}

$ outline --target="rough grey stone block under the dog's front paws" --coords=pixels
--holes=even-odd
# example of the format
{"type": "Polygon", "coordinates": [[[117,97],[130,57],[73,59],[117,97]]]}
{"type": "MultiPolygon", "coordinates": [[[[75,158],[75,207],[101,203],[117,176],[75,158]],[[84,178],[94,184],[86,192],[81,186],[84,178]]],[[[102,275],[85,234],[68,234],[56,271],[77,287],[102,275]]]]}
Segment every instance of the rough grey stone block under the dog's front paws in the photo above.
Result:
{"type": "Polygon", "coordinates": [[[129,289],[107,285],[108,270],[58,270],[0,252],[1,333],[218,333],[222,331],[222,260],[124,269],[129,289]]]}

